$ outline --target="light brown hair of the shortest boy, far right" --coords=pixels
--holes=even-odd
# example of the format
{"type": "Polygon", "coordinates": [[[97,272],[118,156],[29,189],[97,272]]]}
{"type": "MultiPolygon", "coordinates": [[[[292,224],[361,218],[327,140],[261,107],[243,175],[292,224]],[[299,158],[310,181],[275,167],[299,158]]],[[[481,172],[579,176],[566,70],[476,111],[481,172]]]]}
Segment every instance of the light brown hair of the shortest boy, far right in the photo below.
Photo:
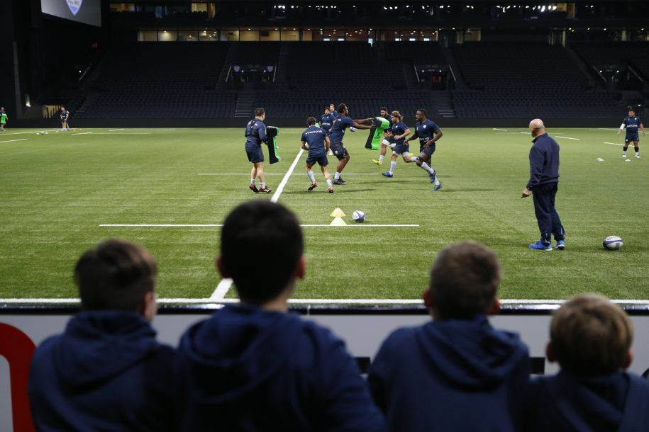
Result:
{"type": "Polygon", "coordinates": [[[550,345],[562,370],[610,375],[628,359],[633,324],[626,312],[602,295],[578,295],[555,312],[550,345]]]}

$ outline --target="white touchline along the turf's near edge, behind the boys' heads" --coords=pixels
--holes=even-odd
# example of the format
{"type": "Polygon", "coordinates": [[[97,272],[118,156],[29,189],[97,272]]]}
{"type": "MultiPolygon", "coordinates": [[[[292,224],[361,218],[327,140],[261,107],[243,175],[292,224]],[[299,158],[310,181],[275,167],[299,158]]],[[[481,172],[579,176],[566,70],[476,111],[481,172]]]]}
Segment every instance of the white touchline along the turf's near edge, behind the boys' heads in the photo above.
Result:
{"type": "MultiPolygon", "coordinates": [[[[221,281],[223,282],[223,281],[221,281]]],[[[221,285],[221,283],[219,283],[221,285]]],[[[649,300],[611,300],[619,305],[649,305],[649,300]]],[[[196,304],[215,303],[212,297],[209,298],[161,298],[160,303],[196,304]]],[[[238,303],[238,299],[226,299],[216,301],[217,303],[238,303]]],[[[500,300],[504,305],[561,305],[565,300],[530,300],[530,299],[504,299],[500,300]]],[[[78,298],[0,298],[0,304],[78,304],[78,298]]],[[[289,299],[292,304],[311,305],[423,305],[421,299],[289,299]]]]}

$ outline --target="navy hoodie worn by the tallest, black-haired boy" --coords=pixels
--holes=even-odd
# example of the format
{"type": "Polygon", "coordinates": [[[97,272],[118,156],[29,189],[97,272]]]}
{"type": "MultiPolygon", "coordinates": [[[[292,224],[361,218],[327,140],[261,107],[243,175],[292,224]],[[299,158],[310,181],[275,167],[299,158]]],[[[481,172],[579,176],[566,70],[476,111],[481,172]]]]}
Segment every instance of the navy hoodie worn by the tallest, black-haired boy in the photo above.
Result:
{"type": "Polygon", "coordinates": [[[226,306],[182,336],[180,431],[384,431],[355,360],[292,314],[226,306]]]}

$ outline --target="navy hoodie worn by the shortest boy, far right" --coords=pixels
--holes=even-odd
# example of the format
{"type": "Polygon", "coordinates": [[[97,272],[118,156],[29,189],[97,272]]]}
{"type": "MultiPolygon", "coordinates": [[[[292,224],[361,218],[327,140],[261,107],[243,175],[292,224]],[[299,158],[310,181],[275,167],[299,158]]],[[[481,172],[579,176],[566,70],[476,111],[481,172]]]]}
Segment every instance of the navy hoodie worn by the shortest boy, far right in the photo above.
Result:
{"type": "Polygon", "coordinates": [[[525,406],[526,431],[649,431],[649,382],[630,373],[538,377],[525,406]]]}

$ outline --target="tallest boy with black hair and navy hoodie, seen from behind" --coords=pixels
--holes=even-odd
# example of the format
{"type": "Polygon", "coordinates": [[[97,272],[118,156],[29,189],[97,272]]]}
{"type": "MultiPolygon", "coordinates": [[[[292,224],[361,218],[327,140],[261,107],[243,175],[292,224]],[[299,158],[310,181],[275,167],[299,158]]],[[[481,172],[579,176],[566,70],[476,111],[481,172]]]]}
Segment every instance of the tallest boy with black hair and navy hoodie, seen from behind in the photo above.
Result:
{"type": "Polygon", "coordinates": [[[179,431],[385,430],[343,341],[287,313],[303,249],[299,222],[282,205],[257,200],[228,215],[216,265],[241,303],[182,336],[179,431]]]}

